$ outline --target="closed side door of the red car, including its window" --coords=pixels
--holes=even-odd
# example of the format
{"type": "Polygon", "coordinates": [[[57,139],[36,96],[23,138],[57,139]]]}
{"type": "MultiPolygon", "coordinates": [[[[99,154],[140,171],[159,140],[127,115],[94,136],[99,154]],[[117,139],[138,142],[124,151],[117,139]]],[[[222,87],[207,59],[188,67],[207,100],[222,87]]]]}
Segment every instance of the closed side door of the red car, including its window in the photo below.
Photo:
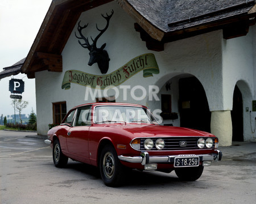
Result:
{"type": "Polygon", "coordinates": [[[77,109],[73,126],[67,133],[67,146],[72,159],[79,162],[89,163],[88,142],[91,125],[91,106],[77,109]]]}

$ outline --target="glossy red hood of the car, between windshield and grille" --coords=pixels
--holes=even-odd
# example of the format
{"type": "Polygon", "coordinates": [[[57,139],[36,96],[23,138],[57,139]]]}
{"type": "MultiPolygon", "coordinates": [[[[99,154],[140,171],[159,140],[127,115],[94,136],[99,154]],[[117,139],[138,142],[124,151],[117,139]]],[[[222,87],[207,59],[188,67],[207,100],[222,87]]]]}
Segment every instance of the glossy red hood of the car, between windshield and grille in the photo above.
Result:
{"type": "Polygon", "coordinates": [[[205,131],[193,130],[189,128],[180,128],[174,126],[162,125],[113,125],[114,129],[122,129],[135,137],[214,137],[214,135],[205,131]]]}

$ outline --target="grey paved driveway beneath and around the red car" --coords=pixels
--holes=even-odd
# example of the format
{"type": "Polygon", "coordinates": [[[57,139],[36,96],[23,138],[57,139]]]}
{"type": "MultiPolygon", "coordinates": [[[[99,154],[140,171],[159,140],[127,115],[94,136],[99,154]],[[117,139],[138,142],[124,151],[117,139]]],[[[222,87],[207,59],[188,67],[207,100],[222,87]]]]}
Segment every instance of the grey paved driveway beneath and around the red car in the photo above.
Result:
{"type": "Polygon", "coordinates": [[[51,148],[35,133],[0,131],[0,203],[255,203],[256,143],[220,147],[221,162],[195,182],[175,173],[133,171],[109,188],[96,168],[69,160],[55,168],[51,148]],[[30,137],[25,137],[30,135],[30,137]]]}

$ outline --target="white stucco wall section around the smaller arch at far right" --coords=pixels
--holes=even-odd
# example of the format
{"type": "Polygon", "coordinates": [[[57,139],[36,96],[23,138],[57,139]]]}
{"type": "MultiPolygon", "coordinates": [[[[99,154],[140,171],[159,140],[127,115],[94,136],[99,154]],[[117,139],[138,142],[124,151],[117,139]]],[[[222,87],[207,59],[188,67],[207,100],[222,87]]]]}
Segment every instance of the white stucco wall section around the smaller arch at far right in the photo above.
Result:
{"type": "Polygon", "coordinates": [[[255,112],[252,111],[254,99],[254,60],[255,60],[255,26],[250,27],[249,33],[243,37],[222,41],[222,69],[224,78],[224,110],[233,109],[234,87],[238,86],[243,97],[243,137],[249,141],[255,137],[250,123],[255,126],[255,112]],[[246,112],[246,107],[249,111],[246,112]]]}

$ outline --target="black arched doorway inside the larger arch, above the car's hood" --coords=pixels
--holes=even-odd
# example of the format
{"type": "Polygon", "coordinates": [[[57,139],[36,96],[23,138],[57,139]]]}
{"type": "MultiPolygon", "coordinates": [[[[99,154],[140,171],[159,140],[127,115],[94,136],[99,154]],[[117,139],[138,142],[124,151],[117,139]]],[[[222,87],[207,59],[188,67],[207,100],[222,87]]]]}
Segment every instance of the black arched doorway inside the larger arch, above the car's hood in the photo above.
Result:
{"type": "Polygon", "coordinates": [[[210,111],[204,87],[195,77],[179,80],[180,126],[210,132],[210,111]]]}

